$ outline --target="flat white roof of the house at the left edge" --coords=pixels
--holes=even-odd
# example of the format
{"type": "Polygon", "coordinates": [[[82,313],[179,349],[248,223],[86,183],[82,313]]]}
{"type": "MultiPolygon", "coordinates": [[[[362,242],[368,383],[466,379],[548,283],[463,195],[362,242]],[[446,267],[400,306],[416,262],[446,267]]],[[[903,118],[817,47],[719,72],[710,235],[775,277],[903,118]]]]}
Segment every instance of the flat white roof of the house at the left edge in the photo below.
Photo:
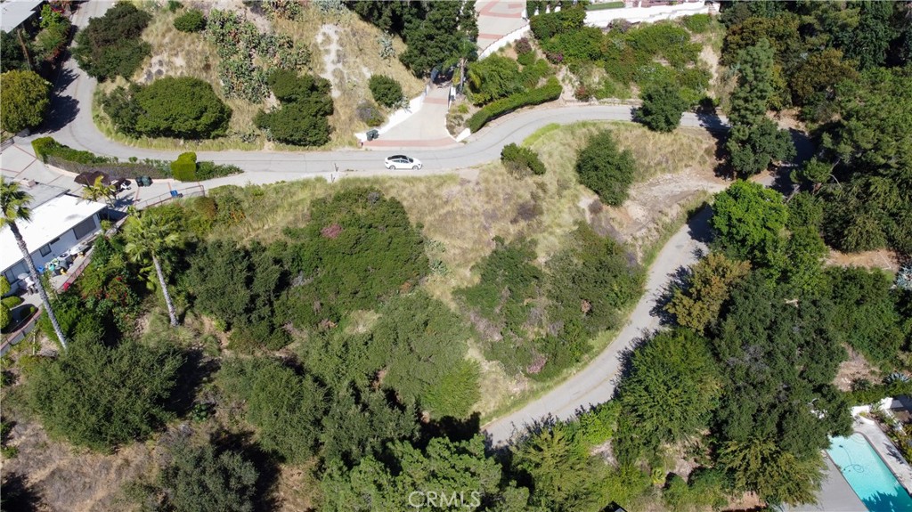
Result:
{"type": "MultiPolygon", "coordinates": [[[[35,252],[43,245],[72,230],[79,222],[104,210],[100,202],[64,195],[47,201],[32,210],[32,220],[16,225],[26,241],[28,251],[35,252]]],[[[22,252],[8,226],[0,230],[0,270],[5,271],[22,260],[22,252]]]]}

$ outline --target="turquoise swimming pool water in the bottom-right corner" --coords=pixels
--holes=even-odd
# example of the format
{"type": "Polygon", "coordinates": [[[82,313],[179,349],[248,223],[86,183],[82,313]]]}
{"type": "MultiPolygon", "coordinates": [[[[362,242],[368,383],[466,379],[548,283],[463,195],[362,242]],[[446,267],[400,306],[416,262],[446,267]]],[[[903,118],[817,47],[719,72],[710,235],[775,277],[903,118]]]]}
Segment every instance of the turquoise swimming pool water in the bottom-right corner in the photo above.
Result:
{"type": "Polygon", "coordinates": [[[899,485],[864,435],[833,437],[826,453],[871,512],[912,512],[912,497],[899,485]]]}

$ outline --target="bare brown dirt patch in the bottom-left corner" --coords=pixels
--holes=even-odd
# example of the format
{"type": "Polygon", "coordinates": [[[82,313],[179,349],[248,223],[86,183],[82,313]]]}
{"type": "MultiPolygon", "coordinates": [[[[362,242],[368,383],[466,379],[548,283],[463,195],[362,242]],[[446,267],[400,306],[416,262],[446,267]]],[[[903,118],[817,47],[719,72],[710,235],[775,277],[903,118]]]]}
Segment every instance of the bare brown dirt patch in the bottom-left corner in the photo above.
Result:
{"type": "Polygon", "coordinates": [[[19,455],[3,463],[4,475],[26,478],[39,497],[39,510],[105,512],[129,509],[121,486],[150,470],[147,445],[134,443],[104,456],[48,439],[43,428],[26,422],[13,427],[8,445],[19,455]]]}

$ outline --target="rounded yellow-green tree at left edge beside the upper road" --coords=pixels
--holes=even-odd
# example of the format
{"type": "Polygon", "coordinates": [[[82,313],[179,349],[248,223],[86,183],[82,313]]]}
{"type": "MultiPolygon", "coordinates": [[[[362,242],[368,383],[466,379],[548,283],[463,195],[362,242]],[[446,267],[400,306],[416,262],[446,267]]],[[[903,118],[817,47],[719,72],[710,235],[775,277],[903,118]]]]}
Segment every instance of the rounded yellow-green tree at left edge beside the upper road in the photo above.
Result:
{"type": "Polygon", "coordinates": [[[0,75],[0,126],[18,133],[45,120],[51,85],[32,71],[7,71],[0,75]]]}

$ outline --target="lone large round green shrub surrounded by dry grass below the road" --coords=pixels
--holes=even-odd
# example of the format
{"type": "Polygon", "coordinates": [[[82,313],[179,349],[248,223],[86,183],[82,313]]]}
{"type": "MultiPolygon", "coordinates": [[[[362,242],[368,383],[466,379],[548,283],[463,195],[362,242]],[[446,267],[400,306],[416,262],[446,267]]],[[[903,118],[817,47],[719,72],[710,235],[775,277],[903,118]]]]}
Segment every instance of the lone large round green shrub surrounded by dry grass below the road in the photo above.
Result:
{"type": "Polygon", "coordinates": [[[627,190],[636,171],[633,154],[627,149],[618,150],[615,139],[607,131],[592,138],[576,159],[580,183],[611,206],[620,206],[627,200],[627,190]]]}

